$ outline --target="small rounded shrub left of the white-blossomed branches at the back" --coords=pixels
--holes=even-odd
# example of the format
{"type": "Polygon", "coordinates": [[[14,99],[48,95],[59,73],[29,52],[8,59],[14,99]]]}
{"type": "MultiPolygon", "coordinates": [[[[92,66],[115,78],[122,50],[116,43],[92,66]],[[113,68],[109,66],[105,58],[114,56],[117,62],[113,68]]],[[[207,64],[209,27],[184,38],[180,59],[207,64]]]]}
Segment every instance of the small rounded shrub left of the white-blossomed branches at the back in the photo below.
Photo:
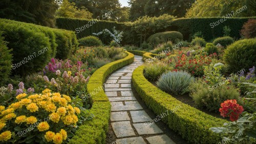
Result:
{"type": "Polygon", "coordinates": [[[84,37],[78,40],[79,46],[101,46],[102,42],[99,38],[94,36],[84,37]]]}

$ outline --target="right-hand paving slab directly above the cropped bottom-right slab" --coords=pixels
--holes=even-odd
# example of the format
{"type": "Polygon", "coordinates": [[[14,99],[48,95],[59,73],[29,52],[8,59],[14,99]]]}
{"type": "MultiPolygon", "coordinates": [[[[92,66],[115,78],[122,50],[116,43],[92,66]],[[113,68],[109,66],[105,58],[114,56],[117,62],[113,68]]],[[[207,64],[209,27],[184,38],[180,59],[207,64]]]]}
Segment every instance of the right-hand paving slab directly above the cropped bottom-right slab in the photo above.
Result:
{"type": "Polygon", "coordinates": [[[156,125],[145,125],[144,123],[133,124],[139,135],[142,134],[157,134],[163,131],[156,125]]]}

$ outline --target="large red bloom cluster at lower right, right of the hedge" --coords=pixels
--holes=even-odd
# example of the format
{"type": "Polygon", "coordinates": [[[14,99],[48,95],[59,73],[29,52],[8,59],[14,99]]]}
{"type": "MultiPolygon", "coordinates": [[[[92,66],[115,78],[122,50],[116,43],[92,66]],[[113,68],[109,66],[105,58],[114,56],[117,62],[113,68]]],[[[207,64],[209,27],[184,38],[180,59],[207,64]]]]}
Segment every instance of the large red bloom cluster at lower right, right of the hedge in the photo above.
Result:
{"type": "Polygon", "coordinates": [[[221,108],[219,109],[222,117],[229,117],[230,121],[237,121],[239,115],[244,111],[243,106],[237,103],[237,100],[226,100],[221,103],[221,108]]]}

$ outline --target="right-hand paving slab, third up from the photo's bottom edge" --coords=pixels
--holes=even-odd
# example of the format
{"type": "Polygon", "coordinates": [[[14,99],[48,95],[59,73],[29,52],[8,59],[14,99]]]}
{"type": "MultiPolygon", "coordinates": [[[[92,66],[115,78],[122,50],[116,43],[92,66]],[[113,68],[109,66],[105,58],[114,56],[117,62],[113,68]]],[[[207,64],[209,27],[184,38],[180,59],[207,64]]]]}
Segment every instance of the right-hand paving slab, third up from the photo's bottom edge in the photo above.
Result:
{"type": "Polygon", "coordinates": [[[144,110],[130,111],[134,123],[152,121],[144,110]]]}

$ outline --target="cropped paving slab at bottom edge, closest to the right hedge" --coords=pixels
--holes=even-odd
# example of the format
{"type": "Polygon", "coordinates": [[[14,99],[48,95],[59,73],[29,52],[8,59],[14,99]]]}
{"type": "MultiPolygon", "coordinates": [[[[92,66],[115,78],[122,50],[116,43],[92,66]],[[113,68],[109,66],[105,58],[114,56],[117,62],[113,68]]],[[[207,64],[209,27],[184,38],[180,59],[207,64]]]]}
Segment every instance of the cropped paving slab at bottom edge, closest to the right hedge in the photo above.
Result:
{"type": "Polygon", "coordinates": [[[176,144],[172,139],[170,139],[167,135],[157,135],[157,136],[151,136],[147,137],[146,140],[150,142],[151,144],[176,144]]]}

